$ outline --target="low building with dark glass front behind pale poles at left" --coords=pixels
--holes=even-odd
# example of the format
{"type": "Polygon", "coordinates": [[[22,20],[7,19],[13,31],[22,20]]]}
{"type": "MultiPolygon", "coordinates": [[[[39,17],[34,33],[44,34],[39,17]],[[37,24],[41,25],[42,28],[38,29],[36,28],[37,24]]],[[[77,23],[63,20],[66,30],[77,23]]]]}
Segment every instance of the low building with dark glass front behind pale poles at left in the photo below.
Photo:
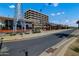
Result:
{"type": "MultiPolygon", "coordinates": [[[[14,18],[0,17],[0,32],[13,32],[14,18]]],[[[26,31],[32,29],[32,23],[25,20],[26,31]]],[[[24,29],[24,28],[23,28],[24,29]]],[[[22,31],[20,22],[17,22],[16,31],[22,31]]],[[[24,31],[24,30],[23,30],[24,31]]]]}

